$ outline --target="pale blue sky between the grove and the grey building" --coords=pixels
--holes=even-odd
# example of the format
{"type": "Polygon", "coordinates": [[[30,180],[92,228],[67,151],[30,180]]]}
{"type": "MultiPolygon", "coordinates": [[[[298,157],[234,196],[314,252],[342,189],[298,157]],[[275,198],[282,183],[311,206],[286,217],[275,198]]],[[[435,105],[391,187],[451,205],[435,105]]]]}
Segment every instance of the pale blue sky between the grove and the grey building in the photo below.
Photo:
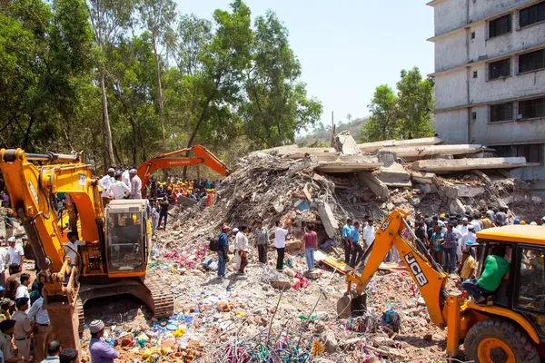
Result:
{"type": "MultiPolygon", "coordinates": [[[[184,14],[212,18],[230,0],[176,0],[184,14]]],[[[302,82],[322,101],[322,123],[369,114],[378,85],[395,87],[401,69],[433,72],[433,9],[415,0],[245,0],[252,16],[276,13],[302,64],[302,82]]]]}

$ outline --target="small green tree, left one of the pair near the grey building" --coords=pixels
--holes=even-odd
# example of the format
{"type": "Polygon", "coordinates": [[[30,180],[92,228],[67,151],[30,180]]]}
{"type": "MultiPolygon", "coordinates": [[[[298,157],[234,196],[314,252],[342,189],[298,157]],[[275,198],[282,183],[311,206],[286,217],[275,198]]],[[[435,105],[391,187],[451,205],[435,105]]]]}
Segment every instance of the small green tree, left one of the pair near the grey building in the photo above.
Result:
{"type": "Polygon", "coordinates": [[[372,115],[362,127],[362,139],[366,142],[395,139],[400,124],[398,97],[388,84],[381,84],[372,95],[369,110],[372,115]]]}

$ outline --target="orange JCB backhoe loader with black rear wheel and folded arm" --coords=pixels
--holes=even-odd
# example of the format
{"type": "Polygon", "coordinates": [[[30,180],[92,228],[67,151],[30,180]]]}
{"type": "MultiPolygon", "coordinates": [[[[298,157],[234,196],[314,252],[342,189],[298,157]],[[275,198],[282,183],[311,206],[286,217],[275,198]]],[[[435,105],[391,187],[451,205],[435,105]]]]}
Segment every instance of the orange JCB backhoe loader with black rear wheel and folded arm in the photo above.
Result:
{"type": "Polygon", "coordinates": [[[492,294],[490,305],[446,291],[448,274],[431,258],[406,218],[404,211],[393,211],[382,221],[363,256],[362,260],[369,260],[362,274],[346,275],[347,292],[337,304],[340,316],[348,318],[352,311],[365,309],[363,291],[395,246],[421,291],[431,321],[447,329],[447,355],[456,357],[463,343],[466,358],[478,363],[539,363],[545,358],[545,227],[512,225],[477,233],[480,270],[493,246],[505,247],[510,255],[509,278],[492,294]]]}

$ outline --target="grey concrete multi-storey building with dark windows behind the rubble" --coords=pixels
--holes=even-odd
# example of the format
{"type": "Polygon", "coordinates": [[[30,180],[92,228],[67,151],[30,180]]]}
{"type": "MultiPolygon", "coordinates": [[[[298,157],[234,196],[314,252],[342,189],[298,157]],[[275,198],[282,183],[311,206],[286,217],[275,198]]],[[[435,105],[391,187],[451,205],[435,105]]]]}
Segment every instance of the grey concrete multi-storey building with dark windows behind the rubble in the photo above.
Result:
{"type": "Polygon", "coordinates": [[[516,170],[545,191],[545,1],[433,0],[435,128],[541,165],[516,170]]]}

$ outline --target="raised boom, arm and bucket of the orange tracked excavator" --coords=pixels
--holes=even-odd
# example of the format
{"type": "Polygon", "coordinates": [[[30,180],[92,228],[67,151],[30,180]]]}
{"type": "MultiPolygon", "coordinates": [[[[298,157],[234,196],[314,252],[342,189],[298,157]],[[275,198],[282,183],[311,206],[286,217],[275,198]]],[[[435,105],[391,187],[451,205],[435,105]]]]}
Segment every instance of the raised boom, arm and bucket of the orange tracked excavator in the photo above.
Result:
{"type": "Polygon", "coordinates": [[[68,269],[64,259],[66,233],[58,226],[54,201],[66,193],[77,205],[81,240],[104,240],[101,199],[94,178],[94,166],[79,155],[26,154],[21,149],[0,150],[0,170],[15,215],[25,228],[36,264],[44,270],[44,308],[64,347],[79,348],[75,314],[79,290],[77,268],[68,269]],[[34,163],[33,163],[34,162],[34,163]],[[40,163],[41,165],[36,165],[40,163]],[[70,275],[65,279],[68,271],[70,275]]]}

